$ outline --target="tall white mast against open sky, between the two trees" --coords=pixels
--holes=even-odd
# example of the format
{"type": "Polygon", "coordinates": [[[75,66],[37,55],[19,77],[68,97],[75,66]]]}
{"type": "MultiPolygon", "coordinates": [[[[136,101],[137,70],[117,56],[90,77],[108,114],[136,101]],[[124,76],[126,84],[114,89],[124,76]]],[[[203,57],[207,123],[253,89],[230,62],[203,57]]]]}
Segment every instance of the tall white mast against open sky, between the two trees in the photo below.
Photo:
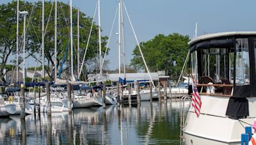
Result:
{"type": "Polygon", "coordinates": [[[121,77],[121,1],[118,1],[118,70],[121,77]]]}

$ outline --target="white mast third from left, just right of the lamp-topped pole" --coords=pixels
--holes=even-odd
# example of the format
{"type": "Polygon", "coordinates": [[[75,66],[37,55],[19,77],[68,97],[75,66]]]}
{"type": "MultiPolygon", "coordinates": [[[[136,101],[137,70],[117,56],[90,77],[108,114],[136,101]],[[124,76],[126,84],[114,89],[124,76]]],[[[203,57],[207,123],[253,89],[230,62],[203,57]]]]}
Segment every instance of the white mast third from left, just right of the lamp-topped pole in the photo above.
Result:
{"type": "Polygon", "coordinates": [[[44,0],[42,0],[42,78],[44,81],[44,0]]]}

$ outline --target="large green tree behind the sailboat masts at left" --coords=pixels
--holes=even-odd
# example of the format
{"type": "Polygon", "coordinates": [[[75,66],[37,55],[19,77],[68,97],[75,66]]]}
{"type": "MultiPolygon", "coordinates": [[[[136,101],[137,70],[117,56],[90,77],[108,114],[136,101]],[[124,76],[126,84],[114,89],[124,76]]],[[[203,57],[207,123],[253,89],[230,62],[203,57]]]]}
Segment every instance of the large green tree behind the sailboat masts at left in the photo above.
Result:
{"type": "MultiPolygon", "coordinates": [[[[12,3],[0,5],[0,78],[3,79],[3,69],[6,67],[8,58],[16,54],[16,1],[12,3]]],[[[45,71],[49,76],[52,76],[52,66],[54,66],[54,3],[45,2],[45,71]],[[47,22],[49,22],[47,24],[47,22]]],[[[20,1],[20,11],[26,10],[29,12],[27,18],[26,29],[26,58],[33,57],[38,60],[40,47],[42,43],[42,2],[29,3],[20,1]],[[31,16],[31,17],[29,17],[31,16]]],[[[66,48],[68,53],[66,55],[65,65],[63,71],[70,72],[70,31],[69,25],[69,6],[67,4],[58,2],[58,56],[57,66],[60,67],[61,61],[65,54],[66,48]]],[[[77,44],[77,10],[73,8],[73,25],[74,25],[74,73],[76,74],[77,68],[77,53],[80,58],[83,58],[83,53],[86,47],[90,26],[92,25],[92,18],[87,17],[85,13],[80,11],[80,51],[76,52],[77,44]]],[[[19,48],[21,53],[22,48],[22,29],[23,18],[19,17],[19,48]]],[[[100,30],[101,31],[101,30],[100,30]]],[[[88,46],[88,53],[86,54],[85,61],[88,62],[99,53],[99,39],[98,39],[98,26],[93,24],[92,36],[88,46]]],[[[106,50],[106,40],[108,37],[102,36],[102,52],[106,50]]],[[[102,53],[104,55],[104,53],[102,53]]],[[[38,60],[42,65],[42,57],[38,60]]],[[[81,60],[80,60],[81,62],[81,60]]],[[[39,67],[39,66],[38,66],[39,67]]],[[[83,69],[84,70],[84,69],[83,69]]]]}

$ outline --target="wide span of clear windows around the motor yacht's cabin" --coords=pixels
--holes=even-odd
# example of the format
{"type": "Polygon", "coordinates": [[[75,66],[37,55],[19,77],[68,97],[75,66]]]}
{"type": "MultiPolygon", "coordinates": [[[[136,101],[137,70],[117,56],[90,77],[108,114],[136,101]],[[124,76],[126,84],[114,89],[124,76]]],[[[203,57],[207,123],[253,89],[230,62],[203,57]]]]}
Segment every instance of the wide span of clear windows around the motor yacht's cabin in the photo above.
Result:
{"type": "Polygon", "coordinates": [[[248,44],[248,38],[236,38],[232,45],[197,48],[191,53],[191,72],[198,86],[202,86],[201,92],[206,92],[210,82],[216,93],[220,90],[226,95],[232,95],[233,86],[250,85],[248,44]]]}

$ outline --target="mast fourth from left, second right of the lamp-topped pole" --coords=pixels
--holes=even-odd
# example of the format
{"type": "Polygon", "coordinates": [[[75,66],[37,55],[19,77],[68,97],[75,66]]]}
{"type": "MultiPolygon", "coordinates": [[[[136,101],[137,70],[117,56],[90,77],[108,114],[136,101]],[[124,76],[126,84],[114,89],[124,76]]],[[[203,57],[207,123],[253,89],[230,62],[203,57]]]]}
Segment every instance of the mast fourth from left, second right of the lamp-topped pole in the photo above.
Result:
{"type": "Polygon", "coordinates": [[[57,78],[57,0],[55,0],[55,15],[54,15],[54,81],[56,82],[57,78]]]}

